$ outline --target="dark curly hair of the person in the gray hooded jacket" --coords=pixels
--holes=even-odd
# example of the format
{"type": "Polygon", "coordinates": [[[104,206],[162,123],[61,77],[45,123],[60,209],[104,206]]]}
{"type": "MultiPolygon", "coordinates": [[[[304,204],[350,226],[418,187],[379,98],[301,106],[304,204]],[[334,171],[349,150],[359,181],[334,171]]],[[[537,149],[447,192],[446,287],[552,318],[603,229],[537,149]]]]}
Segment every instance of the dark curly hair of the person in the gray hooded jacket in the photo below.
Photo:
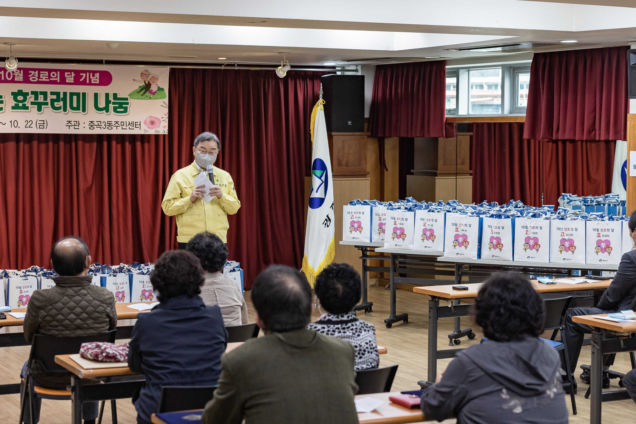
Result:
{"type": "Polygon", "coordinates": [[[481,286],[474,303],[475,322],[494,341],[520,341],[539,337],[546,320],[543,299],[528,278],[497,272],[481,286]]]}

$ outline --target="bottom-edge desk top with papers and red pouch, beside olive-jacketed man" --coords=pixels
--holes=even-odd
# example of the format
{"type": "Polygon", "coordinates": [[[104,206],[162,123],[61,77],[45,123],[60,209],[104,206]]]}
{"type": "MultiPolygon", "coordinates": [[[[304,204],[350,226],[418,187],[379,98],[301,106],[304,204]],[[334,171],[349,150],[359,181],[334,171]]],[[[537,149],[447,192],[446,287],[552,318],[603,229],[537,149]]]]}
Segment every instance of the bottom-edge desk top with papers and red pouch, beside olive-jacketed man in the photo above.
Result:
{"type": "MultiPolygon", "coordinates": [[[[389,401],[389,396],[399,395],[399,392],[389,393],[373,393],[369,395],[357,395],[356,399],[363,397],[373,397],[375,399],[384,400],[384,404],[380,405],[375,411],[370,413],[358,413],[358,421],[361,424],[403,424],[403,423],[419,423],[425,421],[424,414],[421,409],[408,409],[403,406],[394,404],[389,401]]],[[[184,411],[185,412],[185,411],[184,411]]],[[[195,409],[192,413],[202,413],[203,409],[195,409]]],[[[151,421],[155,424],[166,424],[152,414],[151,421]]]]}

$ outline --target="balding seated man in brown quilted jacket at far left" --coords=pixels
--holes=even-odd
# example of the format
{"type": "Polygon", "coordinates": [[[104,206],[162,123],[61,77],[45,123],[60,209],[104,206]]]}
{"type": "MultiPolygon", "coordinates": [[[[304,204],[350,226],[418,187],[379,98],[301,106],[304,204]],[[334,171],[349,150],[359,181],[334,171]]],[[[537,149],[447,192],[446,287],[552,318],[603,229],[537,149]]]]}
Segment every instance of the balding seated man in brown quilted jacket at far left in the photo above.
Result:
{"type": "MultiPolygon", "coordinates": [[[[24,317],[24,338],[31,342],[34,334],[55,337],[95,336],[117,326],[117,311],[113,293],[104,287],[91,285],[86,275],[92,263],[88,246],[79,237],[60,238],[51,249],[51,264],[59,277],[53,277],[55,287],[33,292],[24,317]]],[[[36,385],[53,390],[66,390],[70,374],[46,373],[37,362],[31,364],[36,385]]],[[[25,378],[27,364],[20,376],[25,378]]],[[[25,402],[24,422],[39,421],[41,399],[36,399],[35,419],[31,421],[25,402]]],[[[97,402],[84,402],[82,418],[86,424],[97,418],[97,402]]]]}

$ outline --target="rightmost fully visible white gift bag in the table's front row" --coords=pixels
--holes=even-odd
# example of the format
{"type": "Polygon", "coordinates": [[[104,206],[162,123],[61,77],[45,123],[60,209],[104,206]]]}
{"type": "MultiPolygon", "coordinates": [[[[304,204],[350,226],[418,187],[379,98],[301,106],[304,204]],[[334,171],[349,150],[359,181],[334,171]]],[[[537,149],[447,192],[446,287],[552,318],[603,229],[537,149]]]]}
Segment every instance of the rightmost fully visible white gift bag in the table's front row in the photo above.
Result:
{"type": "Polygon", "coordinates": [[[621,221],[586,221],[585,263],[618,265],[623,252],[621,221]]]}

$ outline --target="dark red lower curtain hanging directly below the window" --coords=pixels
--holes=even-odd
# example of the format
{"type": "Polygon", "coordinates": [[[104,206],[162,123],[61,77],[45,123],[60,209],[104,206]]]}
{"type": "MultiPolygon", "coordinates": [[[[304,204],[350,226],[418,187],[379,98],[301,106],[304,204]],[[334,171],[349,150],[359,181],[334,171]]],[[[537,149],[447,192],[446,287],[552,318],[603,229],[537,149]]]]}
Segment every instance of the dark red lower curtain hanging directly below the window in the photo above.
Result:
{"type": "Polygon", "coordinates": [[[474,123],[471,162],[473,202],[541,206],[541,142],[523,139],[523,123],[474,123]]]}

